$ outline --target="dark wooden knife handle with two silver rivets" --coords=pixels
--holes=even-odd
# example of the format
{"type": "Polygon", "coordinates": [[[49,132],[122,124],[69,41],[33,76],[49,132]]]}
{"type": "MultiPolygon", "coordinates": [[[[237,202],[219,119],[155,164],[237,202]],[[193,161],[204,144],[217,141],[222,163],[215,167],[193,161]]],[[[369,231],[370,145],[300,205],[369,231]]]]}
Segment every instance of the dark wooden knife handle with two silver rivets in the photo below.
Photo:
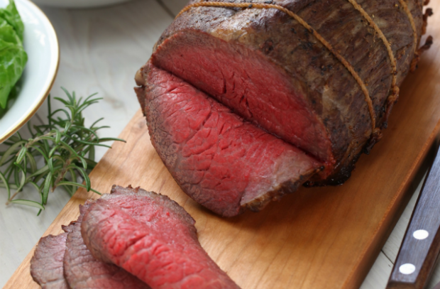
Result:
{"type": "Polygon", "coordinates": [[[422,289],[440,250],[440,153],[424,181],[387,289],[422,289]]]}

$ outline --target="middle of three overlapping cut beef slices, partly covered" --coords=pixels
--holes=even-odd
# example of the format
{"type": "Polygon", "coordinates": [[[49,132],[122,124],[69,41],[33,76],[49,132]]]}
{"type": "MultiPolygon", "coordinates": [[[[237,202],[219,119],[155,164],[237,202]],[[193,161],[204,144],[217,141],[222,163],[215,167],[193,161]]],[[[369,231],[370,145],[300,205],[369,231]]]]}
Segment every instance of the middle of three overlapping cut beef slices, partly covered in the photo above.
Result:
{"type": "Polygon", "coordinates": [[[81,222],[90,202],[79,206],[79,218],[65,230],[70,231],[65,243],[64,273],[72,289],[149,289],[150,286],[114,264],[92,256],[81,236],[81,222]]]}

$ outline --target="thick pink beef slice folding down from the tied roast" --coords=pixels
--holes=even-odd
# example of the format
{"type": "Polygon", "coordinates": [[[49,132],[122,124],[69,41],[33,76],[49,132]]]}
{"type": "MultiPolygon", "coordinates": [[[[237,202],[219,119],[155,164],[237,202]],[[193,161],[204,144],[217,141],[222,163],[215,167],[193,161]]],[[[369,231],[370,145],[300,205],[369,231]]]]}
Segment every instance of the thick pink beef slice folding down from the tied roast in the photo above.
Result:
{"type": "Polygon", "coordinates": [[[150,62],[142,74],[153,146],[182,190],[211,211],[260,210],[322,167],[150,62]]]}

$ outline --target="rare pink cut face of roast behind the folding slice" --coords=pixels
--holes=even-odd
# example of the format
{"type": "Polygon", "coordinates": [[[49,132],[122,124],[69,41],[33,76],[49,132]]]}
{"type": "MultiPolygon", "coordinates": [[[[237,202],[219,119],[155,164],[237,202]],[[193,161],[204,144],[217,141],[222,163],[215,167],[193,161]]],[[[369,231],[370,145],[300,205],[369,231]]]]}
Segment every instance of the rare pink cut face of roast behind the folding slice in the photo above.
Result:
{"type": "Polygon", "coordinates": [[[185,31],[161,43],[152,61],[326,166],[334,164],[324,125],[295,89],[301,84],[259,51],[185,31]]]}

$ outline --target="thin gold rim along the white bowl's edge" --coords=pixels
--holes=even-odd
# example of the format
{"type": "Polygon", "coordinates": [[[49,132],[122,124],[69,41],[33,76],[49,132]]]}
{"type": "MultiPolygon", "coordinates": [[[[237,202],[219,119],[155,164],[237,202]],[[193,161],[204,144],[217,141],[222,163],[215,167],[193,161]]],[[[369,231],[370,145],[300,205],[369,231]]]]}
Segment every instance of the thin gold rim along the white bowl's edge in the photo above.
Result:
{"type": "Polygon", "coordinates": [[[52,53],[50,55],[50,63],[56,62],[55,73],[53,73],[52,79],[50,80],[50,82],[49,82],[48,86],[46,87],[46,89],[44,90],[44,92],[36,97],[37,99],[40,99],[38,101],[38,104],[35,105],[35,107],[33,107],[33,109],[26,115],[26,117],[24,119],[19,121],[18,124],[16,124],[15,126],[11,127],[11,129],[9,129],[9,131],[6,131],[6,133],[3,136],[0,136],[0,143],[3,143],[8,138],[10,138],[13,135],[13,133],[16,133],[16,131],[18,131],[18,129],[21,129],[21,126],[26,124],[26,122],[28,122],[29,119],[31,119],[31,117],[35,114],[35,112],[38,111],[38,109],[41,107],[41,104],[43,104],[45,99],[48,97],[50,90],[53,87],[53,83],[55,82],[55,78],[57,77],[58,67],[60,66],[60,43],[58,43],[58,37],[57,37],[57,33],[55,32],[55,28],[53,28],[53,25],[50,22],[48,16],[46,16],[46,14],[40,9],[40,7],[33,4],[32,1],[28,1],[28,0],[24,0],[24,1],[26,1],[30,6],[33,6],[33,9],[40,11],[43,18],[45,18],[45,20],[49,24],[48,25],[48,28],[50,30],[49,32],[53,33],[53,35],[55,36],[56,45],[54,45],[54,46],[57,49],[54,51],[54,53],[52,53]]]}

